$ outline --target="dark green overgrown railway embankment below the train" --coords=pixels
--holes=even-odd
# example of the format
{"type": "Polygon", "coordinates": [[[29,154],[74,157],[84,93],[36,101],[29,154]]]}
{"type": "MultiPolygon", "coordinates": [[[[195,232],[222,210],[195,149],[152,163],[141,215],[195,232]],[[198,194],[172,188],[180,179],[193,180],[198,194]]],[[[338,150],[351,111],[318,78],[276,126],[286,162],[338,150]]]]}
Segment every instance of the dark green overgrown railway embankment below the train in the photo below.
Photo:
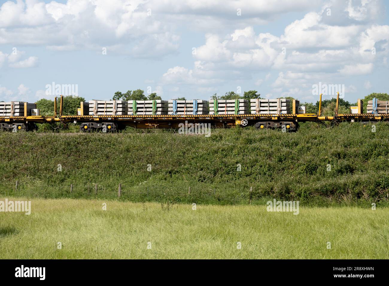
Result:
{"type": "Polygon", "coordinates": [[[307,123],[296,133],[218,129],[209,138],[166,130],[2,132],[0,193],[113,199],[121,182],[121,200],[137,202],[248,204],[252,198],[263,204],[277,198],[370,208],[387,204],[389,189],[389,125],[375,126],[376,132],[359,123],[331,129],[307,123]]]}

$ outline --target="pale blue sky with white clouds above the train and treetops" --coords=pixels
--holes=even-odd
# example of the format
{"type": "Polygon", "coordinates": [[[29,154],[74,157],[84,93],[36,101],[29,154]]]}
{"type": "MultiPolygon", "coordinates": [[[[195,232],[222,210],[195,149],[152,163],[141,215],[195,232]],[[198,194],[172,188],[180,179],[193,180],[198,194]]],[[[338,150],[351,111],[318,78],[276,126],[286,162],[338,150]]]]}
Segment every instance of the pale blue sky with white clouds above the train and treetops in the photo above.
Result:
{"type": "Polygon", "coordinates": [[[0,101],[143,89],[355,103],[389,93],[387,3],[0,0],[0,101]]]}

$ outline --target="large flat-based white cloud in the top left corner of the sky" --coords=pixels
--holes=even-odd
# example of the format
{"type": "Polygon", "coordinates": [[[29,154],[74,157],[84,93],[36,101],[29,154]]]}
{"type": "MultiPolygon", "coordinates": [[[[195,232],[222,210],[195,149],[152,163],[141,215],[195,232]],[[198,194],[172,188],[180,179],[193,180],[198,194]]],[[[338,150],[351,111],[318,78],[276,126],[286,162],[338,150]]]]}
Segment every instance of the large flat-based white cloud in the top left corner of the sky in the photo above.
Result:
{"type": "Polygon", "coordinates": [[[147,14],[144,2],[6,2],[0,7],[0,44],[46,45],[56,51],[112,47],[111,52],[154,58],[176,51],[179,36],[171,23],[157,12],[147,14]]]}

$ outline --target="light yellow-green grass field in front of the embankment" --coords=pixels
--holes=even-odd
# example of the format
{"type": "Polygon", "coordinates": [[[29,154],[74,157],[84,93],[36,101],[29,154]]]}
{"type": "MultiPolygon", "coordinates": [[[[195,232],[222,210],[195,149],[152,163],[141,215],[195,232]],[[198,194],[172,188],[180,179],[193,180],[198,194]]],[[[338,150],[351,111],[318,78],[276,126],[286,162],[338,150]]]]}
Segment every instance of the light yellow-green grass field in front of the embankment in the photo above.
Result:
{"type": "Polygon", "coordinates": [[[267,212],[265,205],[193,210],[190,204],[32,199],[30,215],[0,212],[0,258],[388,259],[388,249],[389,208],[379,207],[300,206],[293,215],[267,212]]]}

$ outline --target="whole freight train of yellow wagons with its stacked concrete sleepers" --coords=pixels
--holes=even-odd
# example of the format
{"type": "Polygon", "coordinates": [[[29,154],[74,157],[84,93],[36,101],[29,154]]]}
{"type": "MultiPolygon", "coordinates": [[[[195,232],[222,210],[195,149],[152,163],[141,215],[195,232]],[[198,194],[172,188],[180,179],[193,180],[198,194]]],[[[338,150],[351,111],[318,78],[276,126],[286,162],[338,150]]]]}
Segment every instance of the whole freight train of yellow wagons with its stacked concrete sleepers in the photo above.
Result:
{"type": "Polygon", "coordinates": [[[318,122],[327,126],[342,121],[389,121],[388,102],[373,98],[368,110],[363,112],[363,102],[350,108],[349,114],[338,114],[339,94],[334,116],[321,115],[321,96],[318,114],[305,113],[305,107],[298,100],[283,98],[275,100],[91,100],[81,102],[77,115],[63,115],[54,100],[54,116],[41,116],[39,110],[26,102],[0,102],[1,131],[33,131],[37,124],[50,123],[53,126],[79,123],[81,132],[116,132],[131,126],[134,128],[179,128],[180,123],[210,124],[215,128],[251,126],[258,129],[282,128],[293,132],[301,122],[318,122]],[[59,109],[59,111],[58,111],[59,109]],[[329,125],[328,125],[329,124],[329,125]]]}

